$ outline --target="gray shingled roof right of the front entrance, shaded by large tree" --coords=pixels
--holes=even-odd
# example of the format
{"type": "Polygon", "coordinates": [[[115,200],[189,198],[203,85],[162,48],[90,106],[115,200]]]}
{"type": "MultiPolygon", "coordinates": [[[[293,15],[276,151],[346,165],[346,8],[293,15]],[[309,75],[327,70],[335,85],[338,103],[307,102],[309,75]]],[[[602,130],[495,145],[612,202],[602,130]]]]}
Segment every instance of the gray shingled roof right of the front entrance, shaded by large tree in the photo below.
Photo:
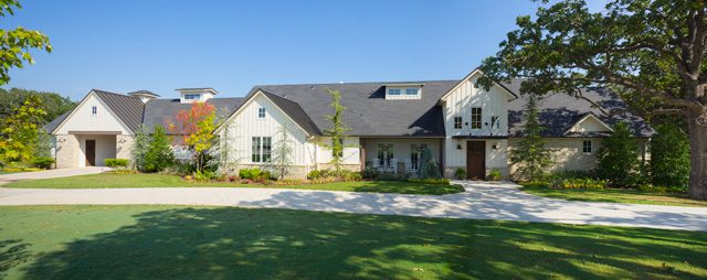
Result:
{"type": "MultiPolygon", "coordinates": [[[[510,90],[519,93],[520,80],[506,83],[510,90]]],[[[524,111],[529,96],[524,95],[508,104],[508,134],[523,136],[524,111]]],[[[655,131],[643,118],[631,114],[626,104],[614,93],[604,88],[584,88],[581,97],[563,93],[545,95],[538,100],[540,123],[545,127],[545,137],[603,137],[605,133],[572,133],[563,136],[587,114],[594,114],[609,126],[627,122],[636,137],[651,137],[655,131]]]]}

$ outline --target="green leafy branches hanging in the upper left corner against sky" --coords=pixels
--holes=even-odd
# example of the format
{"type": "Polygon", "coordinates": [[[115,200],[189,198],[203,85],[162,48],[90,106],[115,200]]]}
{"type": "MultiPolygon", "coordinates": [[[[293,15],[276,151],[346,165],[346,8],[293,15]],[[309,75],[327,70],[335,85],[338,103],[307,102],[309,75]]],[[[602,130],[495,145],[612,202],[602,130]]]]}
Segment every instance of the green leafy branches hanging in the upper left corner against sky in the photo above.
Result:
{"type": "MultiPolygon", "coordinates": [[[[0,0],[0,17],[14,15],[14,9],[21,9],[18,0],[0,0]]],[[[49,37],[42,32],[17,28],[14,30],[0,29],[0,85],[10,82],[9,71],[12,67],[22,68],[24,62],[34,63],[30,50],[40,49],[52,52],[49,37]]]]}

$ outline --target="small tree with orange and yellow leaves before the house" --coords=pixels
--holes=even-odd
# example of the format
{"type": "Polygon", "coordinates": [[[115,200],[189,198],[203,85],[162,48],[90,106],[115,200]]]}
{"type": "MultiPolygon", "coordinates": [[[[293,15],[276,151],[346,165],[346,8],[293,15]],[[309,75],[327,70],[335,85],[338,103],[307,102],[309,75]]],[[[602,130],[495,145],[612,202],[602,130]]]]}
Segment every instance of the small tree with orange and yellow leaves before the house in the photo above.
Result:
{"type": "Polygon", "coordinates": [[[180,144],[187,146],[192,154],[197,172],[203,172],[209,150],[215,143],[212,133],[217,128],[215,107],[208,103],[193,103],[188,110],[179,110],[175,119],[177,123],[169,123],[170,133],[176,134],[180,144]]]}

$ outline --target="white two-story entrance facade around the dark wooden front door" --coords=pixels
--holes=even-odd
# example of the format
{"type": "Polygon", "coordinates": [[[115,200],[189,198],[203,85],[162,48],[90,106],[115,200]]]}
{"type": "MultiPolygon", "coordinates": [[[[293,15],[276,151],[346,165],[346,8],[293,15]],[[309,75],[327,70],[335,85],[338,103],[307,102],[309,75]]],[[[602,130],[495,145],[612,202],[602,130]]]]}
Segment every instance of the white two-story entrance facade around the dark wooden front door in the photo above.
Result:
{"type": "MultiPolygon", "coordinates": [[[[452,139],[453,136],[507,136],[508,134],[508,101],[513,98],[504,88],[494,85],[489,90],[476,87],[476,79],[481,77],[476,72],[452,88],[443,99],[445,139],[445,168],[466,168],[466,142],[452,139]],[[482,108],[482,127],[472,129],[472,108],[482,108]],[[462,128],[454,127],[454,118],[462,117],[462,128]],[[497,125],[492,126],[492,118],[497,118],[497,125]],[[464,123],[469,123],[464,126],[464,123]],[[488,123],[488,126],[486,126],[488,123]],[[457,147],[461,146],[461,149],[457,147]]],[[[486,169],[499,169],[507,172],[507,147],[505,139],[479,139],[486,141],[486,169]],[[494,149],[494,147],[496,149],[494,149]]]]}

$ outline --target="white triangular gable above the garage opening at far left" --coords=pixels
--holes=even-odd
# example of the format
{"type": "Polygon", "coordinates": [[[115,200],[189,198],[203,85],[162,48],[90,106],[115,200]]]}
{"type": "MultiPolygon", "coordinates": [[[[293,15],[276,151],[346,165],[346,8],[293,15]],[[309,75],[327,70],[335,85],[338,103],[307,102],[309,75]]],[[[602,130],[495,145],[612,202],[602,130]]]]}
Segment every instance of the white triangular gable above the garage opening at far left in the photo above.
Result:
{"type": "Polygon", "coordinates": [[[73,132],[110,132],[130,134],[131,130],[94,91],[91,91],[60,123],[52,134],[73,132]],[[93,114],[93,108],[96,114],[93,114]]]}

